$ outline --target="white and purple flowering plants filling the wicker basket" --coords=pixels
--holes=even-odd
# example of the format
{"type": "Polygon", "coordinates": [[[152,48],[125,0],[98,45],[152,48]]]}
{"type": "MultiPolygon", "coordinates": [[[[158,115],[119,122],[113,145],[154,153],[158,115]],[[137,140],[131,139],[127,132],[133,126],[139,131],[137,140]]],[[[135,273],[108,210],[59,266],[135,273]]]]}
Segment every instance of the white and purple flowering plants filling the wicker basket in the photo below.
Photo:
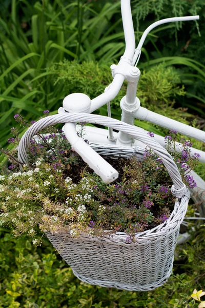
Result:
{"type": "MultiPolygon", "coordinates": [[[[49,111],[44,113],[47,115],[49,111]]],[[[20,125],[30,126],[19,114],[14,118],[20,125]]],[[[165,222],[173,211],[172,180],[162,161],[149,148],[141,161],[136,156],[106,157],[119,177],[114,183],[105,184],[72,151],[61,129],[50,126],[31,139],[27,165],[17,159],[17,128],[11,132],[13,137],[8,142],[14,144],[13,149],[1,149],[9,163],[1,169],[0,224],[11,227],[14,236],[27,233],[33,244],[39,245],[38,228],[51,234],[66,232],[73,238],[100,237],[108,230],[111,234],[126,233],[127,244],[132,244],[136,233],[165,222]]],[[[84,124],[78,134],[83,136],[84,124]]],[[[148,134],[154,136],[152,132],[148,134]]],[[[175,151],[175,130],[165,139],[168,150],[174,149],[171,155],[183,182],[193,188],[196,183],[190,170],[200,156],[190,155],[189,140],[182,139],[181,152],[175,151]]]]}

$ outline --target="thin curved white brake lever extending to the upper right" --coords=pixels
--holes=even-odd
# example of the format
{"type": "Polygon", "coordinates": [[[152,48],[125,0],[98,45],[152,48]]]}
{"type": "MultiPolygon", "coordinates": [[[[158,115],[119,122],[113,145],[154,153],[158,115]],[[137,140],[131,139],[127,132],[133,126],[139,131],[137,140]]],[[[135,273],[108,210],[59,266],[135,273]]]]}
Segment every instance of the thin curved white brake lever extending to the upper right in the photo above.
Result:
{"type": "MultiPolygon", "coordinates": [[[[137,62],[139,61],[139,57],[140,57],[140,53],[141,53],[141,47],[145,42],[145,39],[148,35],[148,33],[154,29],[155,27],[162,25],[162,24],[167,24],[167,23],[172,23],[172,22],[185,22],[185,21],[194,21],[194,20],[199,20],[199,15],[196,16],[182,16],[182,17],[171,17],[171,18],[165,18],[161,21],[155,22],[152,25],[150,25],[145,32],[142,34],[139,44],[135,50],[135,54],[133,56],[133,61],[132,61],[132,65],[135,65],[135,62],[137,60],[137,62]]],[[[137,64],[137,63],[136,63],[137,64]]]]}

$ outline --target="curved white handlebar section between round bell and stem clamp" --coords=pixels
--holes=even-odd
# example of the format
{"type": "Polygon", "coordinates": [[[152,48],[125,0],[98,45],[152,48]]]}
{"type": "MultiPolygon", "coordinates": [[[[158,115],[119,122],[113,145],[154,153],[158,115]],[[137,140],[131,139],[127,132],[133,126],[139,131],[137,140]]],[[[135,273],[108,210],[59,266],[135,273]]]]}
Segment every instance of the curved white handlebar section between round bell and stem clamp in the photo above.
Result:
{"type": "Polygon", "coordinates": [[[99,107],[112,101],[119,93],[119,90],[121,89],[124,80],[124,75],[116,73],[112,83],[110,84],[109,89],[103,94],[100,94],[98,97],[91,100],[91,107],[88,113],[91,113],[99,107]]]}

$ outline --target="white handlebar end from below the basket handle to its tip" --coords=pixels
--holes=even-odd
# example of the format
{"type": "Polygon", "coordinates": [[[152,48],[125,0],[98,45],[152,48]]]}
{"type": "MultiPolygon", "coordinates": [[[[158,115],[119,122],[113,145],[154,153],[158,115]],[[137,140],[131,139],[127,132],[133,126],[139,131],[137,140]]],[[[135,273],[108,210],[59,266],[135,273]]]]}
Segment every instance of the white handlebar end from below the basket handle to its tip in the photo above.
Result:
{"type": "Polygon", "coordinates": [[[118,178],[118,172],[103,157],[93,150],[83,138],[76,133],[75,123],[66,123],[64,132],[72,149],[101,177],[105,183],[111,183],[118,178]]]}

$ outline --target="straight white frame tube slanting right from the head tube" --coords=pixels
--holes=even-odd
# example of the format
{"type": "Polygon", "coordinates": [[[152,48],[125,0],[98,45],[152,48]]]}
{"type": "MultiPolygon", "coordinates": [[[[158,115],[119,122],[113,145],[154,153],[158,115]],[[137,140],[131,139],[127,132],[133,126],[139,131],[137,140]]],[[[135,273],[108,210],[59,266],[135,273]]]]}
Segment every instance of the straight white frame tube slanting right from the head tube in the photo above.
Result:
{"type": "Polygon", "coordinates": [[[144,107],[139,107],[134,115],[136,119],[145,120],[168,129],[176,129],[177,132],[184,134],[185,136],[205,142],[205,131],[164,117],[163,115],[152,112],[144,107]]]}

